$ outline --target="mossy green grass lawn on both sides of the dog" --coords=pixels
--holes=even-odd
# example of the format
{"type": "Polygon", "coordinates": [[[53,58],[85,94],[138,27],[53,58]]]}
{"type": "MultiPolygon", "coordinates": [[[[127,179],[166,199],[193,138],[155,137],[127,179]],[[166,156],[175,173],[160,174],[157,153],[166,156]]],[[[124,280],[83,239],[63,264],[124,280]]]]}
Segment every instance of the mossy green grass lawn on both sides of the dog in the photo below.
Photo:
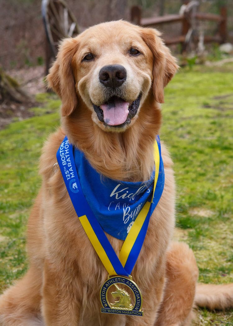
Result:
{"type": "MultiPolygon", "coordinates": [[[[165,91],[161,139],[177,182],[175,237],[194,250],[205,283],[233,282],[233,65],[181,69],[165,91]]],[[[0,291],[27,269],[25,231],[40,186],[43,141],[59,125],[59,101],[38,97],[35,117],[0,131],[0,291]]],[[[52,170],[52,167],[51,167],[52,170]]],[[[197,310],[195,325],[233,325],[233,310],[197,310]]]]}

